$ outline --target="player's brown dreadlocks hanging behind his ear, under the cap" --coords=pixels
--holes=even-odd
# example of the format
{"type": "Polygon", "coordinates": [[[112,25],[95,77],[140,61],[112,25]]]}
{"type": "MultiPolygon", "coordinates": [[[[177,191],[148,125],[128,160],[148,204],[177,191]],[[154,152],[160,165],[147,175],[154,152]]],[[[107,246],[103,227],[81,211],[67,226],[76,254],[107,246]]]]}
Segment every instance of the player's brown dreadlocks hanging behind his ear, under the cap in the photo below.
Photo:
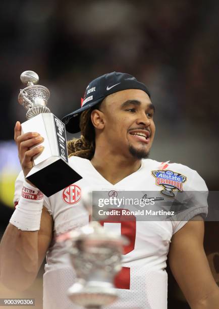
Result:
{"type": "Polygon", "coordinates": [[[91,112],[98,110],[101,102],[81,113],[80,128],[81,138],[67,141],[69,158],[72,156],[91,160],[95,152],[95,130],[91,122],[91,112]]]}

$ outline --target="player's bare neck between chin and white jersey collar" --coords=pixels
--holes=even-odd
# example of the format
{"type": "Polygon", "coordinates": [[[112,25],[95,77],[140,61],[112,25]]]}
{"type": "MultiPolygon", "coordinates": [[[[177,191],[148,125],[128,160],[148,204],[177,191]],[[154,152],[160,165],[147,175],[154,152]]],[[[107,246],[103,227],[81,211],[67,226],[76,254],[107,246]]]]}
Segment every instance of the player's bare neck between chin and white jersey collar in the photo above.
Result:
{"type": "Polygon", "coordinates": [[[107,154],[103,157],[96,152],[90,162],[97,172],[113,185],[136,172],[141,166],[141,160],[138,159],[129,160],[122,156],[115,156],[115,154],[107,154]]]}

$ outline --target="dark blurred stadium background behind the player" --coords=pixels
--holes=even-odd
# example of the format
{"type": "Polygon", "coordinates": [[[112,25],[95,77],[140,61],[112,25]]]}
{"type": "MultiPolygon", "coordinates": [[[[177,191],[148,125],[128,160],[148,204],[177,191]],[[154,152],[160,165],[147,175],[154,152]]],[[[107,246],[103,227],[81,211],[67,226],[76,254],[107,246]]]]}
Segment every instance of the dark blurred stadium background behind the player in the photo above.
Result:
{"type": "MultiPolygon", "coordinates": [[[[15,122],[26,120],[17,101],[26,70],[48,87],[48,107],[59,118],[80,107],[97,76],[134,75],[156,107],[150,158],[188,165],[218,190],[218,16],[216,0],[1,1],[0,233],[13,212],[20,171],[12,139],[15,122]]],[[[218,225],[206,223],[205,233],[217,282],[218,225]]],[[[171,274],[169,284],[169,308],[189,308],[171,274]]]]}

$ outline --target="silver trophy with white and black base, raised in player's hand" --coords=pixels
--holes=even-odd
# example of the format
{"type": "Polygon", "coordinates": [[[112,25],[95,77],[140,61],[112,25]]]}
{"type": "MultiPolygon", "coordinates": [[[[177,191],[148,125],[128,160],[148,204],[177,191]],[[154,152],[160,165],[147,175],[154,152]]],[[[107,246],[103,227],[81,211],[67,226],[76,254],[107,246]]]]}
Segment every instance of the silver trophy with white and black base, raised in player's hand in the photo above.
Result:
{"type": "Polygon", "coordinates": [[[39,76],[33,71],[21,74],[27,87],[20,90],[19,103],[27,110],[27,121],[22,123],[22,133],[37,132],[43,138],[44,150],[33,160],[34,167],[26,178],[50,196],[82,177],[68,165],[68,151],[64,123],[47,108],[49,90],[36,85],[39,76]]]}

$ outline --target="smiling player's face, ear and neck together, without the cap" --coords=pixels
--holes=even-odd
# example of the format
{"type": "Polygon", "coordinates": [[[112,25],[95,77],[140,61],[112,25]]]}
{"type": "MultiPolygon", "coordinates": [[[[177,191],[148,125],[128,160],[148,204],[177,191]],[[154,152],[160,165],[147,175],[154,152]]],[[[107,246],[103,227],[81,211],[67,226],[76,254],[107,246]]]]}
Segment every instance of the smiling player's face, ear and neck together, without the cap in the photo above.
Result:
{"type": "Polygon", "coordinates": [[[100,110],[92,112],[96,147],[91,163],[110,183],[136,172],[148,157],[155,133],[153,113],[149,96],[139,89],[108,95],[100,110]]]}

